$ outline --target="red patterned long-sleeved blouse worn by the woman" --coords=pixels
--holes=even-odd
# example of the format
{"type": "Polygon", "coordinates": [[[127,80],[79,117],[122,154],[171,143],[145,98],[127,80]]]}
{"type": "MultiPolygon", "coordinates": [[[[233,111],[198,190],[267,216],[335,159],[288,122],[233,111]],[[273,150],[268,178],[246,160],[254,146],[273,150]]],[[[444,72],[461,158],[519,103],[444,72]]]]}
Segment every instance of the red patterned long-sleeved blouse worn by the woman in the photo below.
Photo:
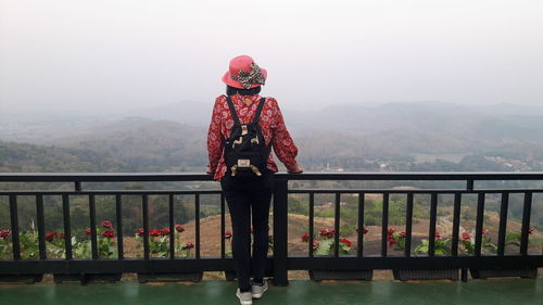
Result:
{"type": "MultiPolygon", "coordinates": [[[[250,123],[254,117],[261,96],[255,94],[243,97],[236,94],[231,96],[231,99],[240,118],[240,123],[250,123]],[[248,99],[248,101],[250,100],[250,102],[245,103],[245,99],[248,99]]],[[[266,98],[258,125],[262,128],[266,145],[269,145],[272,141],[275,153],[285,164],[287,169],[295,170],[298,167],[298,163],[295,161],[298,148],[294,145],[294,141],[292,141],[292,138],[285,126],[279,104],[274,98],[266,98]]],[[[210,130],[207,132],[207,152],[210,154],[210,164],[207,167],[209,171],[215,173],[213,177],[215,180],[220,180],[227,170],[223,154],[223,138],[228,138],[230,136],[232,126],[233,118],[231,116],[230,109],[228,107],[226,96],[220,96],[215,100],[213,115],[210,123],[210,130]]],[[[267,168],[273,171],[278,170],[272,152],[269,153],[267,160],[267,168]]]]}

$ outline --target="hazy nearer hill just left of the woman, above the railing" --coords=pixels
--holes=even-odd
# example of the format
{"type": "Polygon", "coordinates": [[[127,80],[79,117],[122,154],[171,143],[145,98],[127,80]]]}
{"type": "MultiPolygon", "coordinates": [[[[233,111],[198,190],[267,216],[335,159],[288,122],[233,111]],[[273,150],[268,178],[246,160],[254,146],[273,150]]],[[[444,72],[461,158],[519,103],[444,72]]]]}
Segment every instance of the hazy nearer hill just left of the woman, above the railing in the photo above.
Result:
{"type": "Polygon", "coordinates": [[[123,119],[51,142],[115,157],[130,164],[137,171],[184,171],[205,168],[205,137],[206,130],[202,127],[150,119],[127,124],[127,119],[123,119]]]}

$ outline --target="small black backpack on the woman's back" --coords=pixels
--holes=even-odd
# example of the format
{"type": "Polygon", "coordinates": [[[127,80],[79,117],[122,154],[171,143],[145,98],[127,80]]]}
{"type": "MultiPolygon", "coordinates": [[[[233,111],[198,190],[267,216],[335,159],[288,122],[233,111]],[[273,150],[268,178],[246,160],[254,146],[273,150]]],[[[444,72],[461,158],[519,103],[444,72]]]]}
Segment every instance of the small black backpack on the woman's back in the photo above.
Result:
{"type": "Polygon", "coordinates": [[[253,122],[241,124],[230,97],[226,97],[233,118],[230,137],[225,139],[227,175],[232,177],[260,177],[266,170],[272,143],[266,147],[258,119],[265,98],[261,99],[253,122]]]}

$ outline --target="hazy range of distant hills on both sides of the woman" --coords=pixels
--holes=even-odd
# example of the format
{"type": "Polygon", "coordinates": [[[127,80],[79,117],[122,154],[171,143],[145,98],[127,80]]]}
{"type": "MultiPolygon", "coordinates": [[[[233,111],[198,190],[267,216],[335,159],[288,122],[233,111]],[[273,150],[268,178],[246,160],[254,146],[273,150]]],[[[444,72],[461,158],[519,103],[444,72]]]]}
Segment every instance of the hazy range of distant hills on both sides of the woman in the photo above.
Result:
{"type": "MultiPolygon", "coordinates": [[[[131,116],[77,122],[10,120],[0,124],[0,139],[90,150],[136,171],[201,171],[207,164],[211,106],[159,105],[131,111],[131,116]]],[[[541,107],[420,102],[338,104],[305,112],[283,105],[282,111],[306,169],[543,169],[541,107]]]]}

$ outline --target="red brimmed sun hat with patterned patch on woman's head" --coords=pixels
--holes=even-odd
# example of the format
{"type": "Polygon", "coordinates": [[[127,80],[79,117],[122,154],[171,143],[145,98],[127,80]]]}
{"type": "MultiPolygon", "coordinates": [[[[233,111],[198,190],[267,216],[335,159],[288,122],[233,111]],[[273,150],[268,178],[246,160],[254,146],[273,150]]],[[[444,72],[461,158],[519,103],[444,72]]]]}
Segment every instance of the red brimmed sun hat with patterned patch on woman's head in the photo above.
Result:
{"type": "Polygon", "coordinates": [[[223,75],[223,82],[228,86],[250,89],[264,85],[267,72],[254,63],[249,55],[239,55],[230,60],[228,71],[223,75]]]}

